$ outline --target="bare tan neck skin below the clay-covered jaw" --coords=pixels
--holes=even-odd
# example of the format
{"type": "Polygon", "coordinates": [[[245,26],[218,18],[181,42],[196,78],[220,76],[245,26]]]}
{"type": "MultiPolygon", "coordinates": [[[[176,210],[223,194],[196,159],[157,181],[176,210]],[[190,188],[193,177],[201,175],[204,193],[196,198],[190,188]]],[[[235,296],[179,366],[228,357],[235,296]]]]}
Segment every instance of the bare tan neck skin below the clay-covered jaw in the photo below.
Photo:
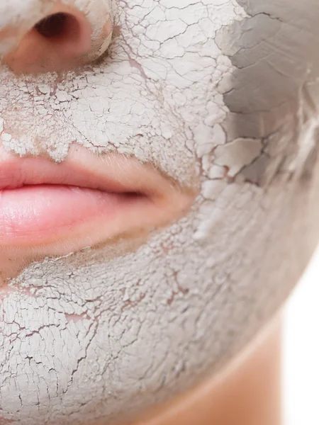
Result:
{"type": "Polygon", "coordinates": [[[276,319],[259,340],[250,344],[218,377],[208,378],[132,424],[280,425],[280,319],[276,319]]]}

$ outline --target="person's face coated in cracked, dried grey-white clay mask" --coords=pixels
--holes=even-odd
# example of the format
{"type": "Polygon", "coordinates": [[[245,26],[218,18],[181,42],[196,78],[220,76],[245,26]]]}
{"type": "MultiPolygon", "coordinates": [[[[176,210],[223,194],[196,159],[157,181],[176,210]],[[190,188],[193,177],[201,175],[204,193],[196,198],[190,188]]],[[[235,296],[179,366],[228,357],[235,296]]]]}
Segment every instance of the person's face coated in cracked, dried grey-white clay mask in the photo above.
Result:
{"type": "Polygon", "coordinates": [[[319,8],[11,0],[0,12],[3,53],[22,52],[0,67],[0,423],[111,423],[216,373],[306,265],[319,8]],[[28,43],[12,47],[16,28],[71,6],[93,28],[89,62],[62,72],[49,40],[39,73],[28,43]]]}

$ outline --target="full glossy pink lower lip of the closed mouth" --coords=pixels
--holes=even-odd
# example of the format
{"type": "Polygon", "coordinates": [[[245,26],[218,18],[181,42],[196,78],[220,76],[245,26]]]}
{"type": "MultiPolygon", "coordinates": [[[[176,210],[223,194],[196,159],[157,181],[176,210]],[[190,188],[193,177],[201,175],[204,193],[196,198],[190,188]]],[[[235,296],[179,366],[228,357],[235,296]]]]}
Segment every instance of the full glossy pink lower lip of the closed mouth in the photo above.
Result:
{"type": "MultiPolygon", "coordinates": [[[[35,246],[82,237],[84,228],[94,225],[104,227],[99,237],[101,232],[105,239],[113,237],[118,217],[125,217],[140,198],[144,197],[58,185],[0,191],[0,246],[35,246]]],[[[82,243],[86,246],[85,237],[82,243]]]]}

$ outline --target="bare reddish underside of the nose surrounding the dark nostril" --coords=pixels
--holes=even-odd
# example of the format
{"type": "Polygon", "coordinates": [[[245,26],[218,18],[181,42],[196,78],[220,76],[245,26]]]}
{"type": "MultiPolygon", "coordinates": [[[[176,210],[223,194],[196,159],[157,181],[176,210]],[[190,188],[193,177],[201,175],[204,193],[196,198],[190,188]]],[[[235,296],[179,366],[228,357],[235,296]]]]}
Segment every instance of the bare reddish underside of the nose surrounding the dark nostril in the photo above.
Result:
{"type": "Polygon", "coordinates": [[[76,7],[57,4],[22,34],[10,27],[15,42],[3,61],[16,74],[58,72],[89,62],[106,50],[111,38],[110,15],[102,16],[101,28],[96,28],[76,7]]]}

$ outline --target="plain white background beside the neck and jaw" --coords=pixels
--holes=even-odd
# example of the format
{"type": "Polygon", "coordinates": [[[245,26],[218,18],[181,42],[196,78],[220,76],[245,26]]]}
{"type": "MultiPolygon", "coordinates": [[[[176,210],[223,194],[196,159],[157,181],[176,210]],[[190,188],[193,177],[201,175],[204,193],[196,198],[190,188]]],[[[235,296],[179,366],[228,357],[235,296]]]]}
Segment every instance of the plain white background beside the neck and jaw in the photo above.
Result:
{"type": "Polygon", "coordinates": [[[286,306],[284,425],[319,425],[319,249],[286,306]]]}

